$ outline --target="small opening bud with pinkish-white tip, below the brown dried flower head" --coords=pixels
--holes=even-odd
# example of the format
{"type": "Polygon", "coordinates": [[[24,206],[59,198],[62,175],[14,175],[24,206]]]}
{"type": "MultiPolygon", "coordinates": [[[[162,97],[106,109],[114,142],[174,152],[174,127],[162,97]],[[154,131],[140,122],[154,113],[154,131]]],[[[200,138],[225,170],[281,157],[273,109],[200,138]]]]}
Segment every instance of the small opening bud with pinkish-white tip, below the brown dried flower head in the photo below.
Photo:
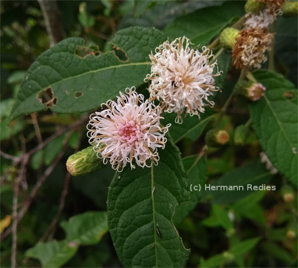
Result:
{"type": "Polygon", "coordinates": [[[249,101],[255,102],[264,96],[266,88],[261,83],[242,80],[238,82],[235,87],[235,93],[242,95],[249,101]]]}

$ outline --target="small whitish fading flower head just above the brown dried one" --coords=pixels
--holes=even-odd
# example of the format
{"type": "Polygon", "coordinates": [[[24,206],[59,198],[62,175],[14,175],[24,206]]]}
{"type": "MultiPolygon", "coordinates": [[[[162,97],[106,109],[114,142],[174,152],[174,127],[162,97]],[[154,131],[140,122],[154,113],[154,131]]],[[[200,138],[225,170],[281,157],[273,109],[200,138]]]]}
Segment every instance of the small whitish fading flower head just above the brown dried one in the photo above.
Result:
{"type": "Polygon", "coordinates": [[[277,16],[282,15],[282,11],[280,9],[276,10],[274,13],[269,12],[269,9],[264,9],[260,11],[258,15],[254,15],[251,13],[247,13],[245,15],[246,21],[244,23],[245,29],[252,28],[268,28],[269,25],[277,19],[277,16]]]}

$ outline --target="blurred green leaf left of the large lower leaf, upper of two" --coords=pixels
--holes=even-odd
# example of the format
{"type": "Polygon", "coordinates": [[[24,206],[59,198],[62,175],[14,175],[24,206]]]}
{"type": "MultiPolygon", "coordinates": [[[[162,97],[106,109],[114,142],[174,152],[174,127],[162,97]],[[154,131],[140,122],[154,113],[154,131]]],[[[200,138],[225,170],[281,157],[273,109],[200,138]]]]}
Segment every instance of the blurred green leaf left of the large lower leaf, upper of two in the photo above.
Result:
{"type": "Polygon", "coordinates": [[[108,231],[106,212],[86,212],[61,222],[66,232],[66,241],[82,245],[96,244],[108,231]]]}

